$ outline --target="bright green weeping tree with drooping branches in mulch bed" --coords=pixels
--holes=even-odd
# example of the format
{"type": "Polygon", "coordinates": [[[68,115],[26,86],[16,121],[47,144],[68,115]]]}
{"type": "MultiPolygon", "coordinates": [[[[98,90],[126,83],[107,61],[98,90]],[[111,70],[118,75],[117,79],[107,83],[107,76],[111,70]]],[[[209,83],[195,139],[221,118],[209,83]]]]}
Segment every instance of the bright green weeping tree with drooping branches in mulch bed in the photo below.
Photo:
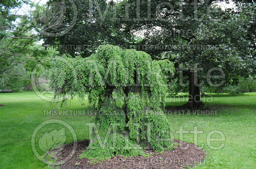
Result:
{"type": "Polygon", "coordinates": [[[100,129],[113,129],[108,130],[104,147],[95,138],[82,157],[134,156],[143,154],[146,147],[156,151],[172,147],[164,114],[168,77],[175,71],[172,62],[152,60],[145,52],[112,45],[99,46],[87,58],[64,59],[73,64],[55,62],[51,83],[60,91],[55,95],[77,95],[83,101],[88,94],[92,109],[102,112],[96,116],[100,129]]]}

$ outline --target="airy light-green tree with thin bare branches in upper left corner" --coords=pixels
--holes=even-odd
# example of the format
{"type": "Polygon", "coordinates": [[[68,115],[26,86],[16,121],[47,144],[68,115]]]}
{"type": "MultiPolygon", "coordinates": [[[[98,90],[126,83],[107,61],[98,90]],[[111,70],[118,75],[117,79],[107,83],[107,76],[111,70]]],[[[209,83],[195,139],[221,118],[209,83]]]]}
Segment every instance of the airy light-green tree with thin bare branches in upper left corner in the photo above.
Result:
{"type": "MultiPolygon", "coordinates": [[[[1,1],[0,76],[7,70],[12,70],[15,66],[26,62],[28,56],[31,56],[31,46],[36,45],[35,42],[40,40],[39,36],[48,36],[49,33],[52,33],[51,30],[56,27],[61,17],[60,12],[56,14],[50,11],[56,11],[54,9],[59,6],[60,4],[53,3],[45,7],[44,5],[33,4],[27,0],[1,1]],[[31,8],[31,13],[20,12],[21,8],[26,10],[31,8]],[[47,9],[51,10],[47,11],[47,9]],[[48,12],[47,14],[51,13],[52,15],[46,17],[46,11],[48,12]],[[52,18],[55,18],[54,22],[37,23],[41,20],[52,20],[52,18]]],[[[67,22],[65,23],[68,24],[67,22]]],[[[59,23],[59,26],[61,25],[64,24],[59,23]]],[[[41,52],[44,53],[43,51],[41,52]]]]}

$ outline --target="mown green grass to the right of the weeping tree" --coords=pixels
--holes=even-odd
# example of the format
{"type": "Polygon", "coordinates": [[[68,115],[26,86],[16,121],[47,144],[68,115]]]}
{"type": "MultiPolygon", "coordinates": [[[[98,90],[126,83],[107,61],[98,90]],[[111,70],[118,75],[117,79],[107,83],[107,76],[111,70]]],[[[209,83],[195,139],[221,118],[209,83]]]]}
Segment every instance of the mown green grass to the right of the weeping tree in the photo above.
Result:
{"type": "MultiPolygon", "coordinates": [[[[182,103],[168,103],[169,106],[182,103]]],[[[203,130],[198,134],[198,145],[204,148],[206,164],[198,168],[256,168],[256,93],[245,93],[241,96],[213,95],[213,102],[205,103],[207,109],[218,110],[216,116],[168,116],[172,129],[203,130]],[[212,145],[219,146],[225,143],[220,150],[212,150],[206,145],[206,136],[212,130],[224,133],[226,141],[212,145]],[[213,165],[207,165],[207,160],[213,160],[213,165]]],[[[179,135],[174,133],[175,138],[179,135]]],[[[184,134],[183,141],[193,142],[193,134],[184,134]]],[[[218,137],[213,135],[212,137],[218,137]]]]}

